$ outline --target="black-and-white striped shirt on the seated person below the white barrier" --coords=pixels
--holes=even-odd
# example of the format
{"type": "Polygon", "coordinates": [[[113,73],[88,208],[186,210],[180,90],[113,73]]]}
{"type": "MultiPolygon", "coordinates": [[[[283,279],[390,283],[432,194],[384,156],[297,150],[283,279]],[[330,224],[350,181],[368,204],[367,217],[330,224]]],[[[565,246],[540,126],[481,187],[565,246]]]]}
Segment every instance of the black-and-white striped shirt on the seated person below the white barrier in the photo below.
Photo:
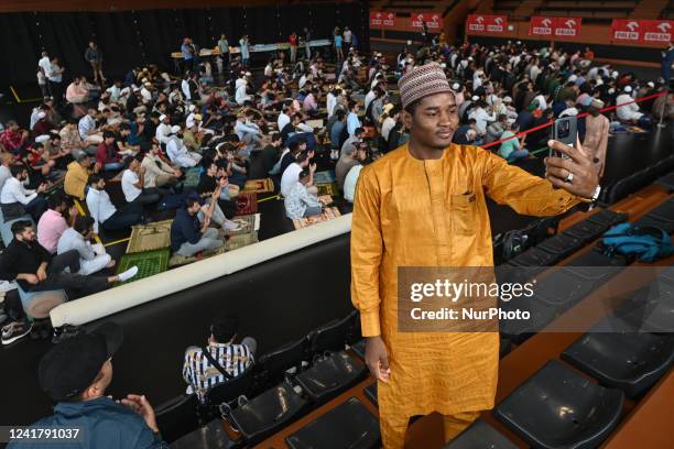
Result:
{"type": "MultiPolygon", "coordinates": [[[[244,344],[209,343],[208,350],[232,377],[240,375],[253,363],[253,355],[244,344]]],[[[185,351],[183,379],[187,382],[187,393],[196,393],[202,402],[206,399],[206,392],[209,388],[227,382],[222,373],[204,355],[202,348],[196,347],[185,351]]]]}

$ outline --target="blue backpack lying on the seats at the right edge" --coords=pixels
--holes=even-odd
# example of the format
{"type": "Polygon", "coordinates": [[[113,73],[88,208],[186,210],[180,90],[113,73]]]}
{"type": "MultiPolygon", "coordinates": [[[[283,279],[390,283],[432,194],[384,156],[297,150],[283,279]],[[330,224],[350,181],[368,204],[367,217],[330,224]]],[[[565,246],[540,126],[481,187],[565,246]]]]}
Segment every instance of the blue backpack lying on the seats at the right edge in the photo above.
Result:
{"type": "Polygon", "coordinates": [[[618,225],[604,233],[604,253],[634,256],[642,262],[653,262],[674,254],[672,239],[663,229],[618,225]]]}

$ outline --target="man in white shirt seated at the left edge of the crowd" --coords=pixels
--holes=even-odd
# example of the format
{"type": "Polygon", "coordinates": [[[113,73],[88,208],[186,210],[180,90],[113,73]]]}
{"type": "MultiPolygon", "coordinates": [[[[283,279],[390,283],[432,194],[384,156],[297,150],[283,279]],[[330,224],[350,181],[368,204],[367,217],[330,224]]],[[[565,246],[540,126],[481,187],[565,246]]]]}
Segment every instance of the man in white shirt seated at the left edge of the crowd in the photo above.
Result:
{"type": "Polygon", "coordinates": [[[28,169],[24,166],[12,165],[10,172],[12,176],[4,182],[2,193],[0,193],[0,207],[4,221],[13,220],[28,212],[35,222],[39,222],[42,213],[47,210],[47,201],[40,195],[46,190],[46,183],[31,190],[23,186],[23,182],[28,178],[28,169]]]}

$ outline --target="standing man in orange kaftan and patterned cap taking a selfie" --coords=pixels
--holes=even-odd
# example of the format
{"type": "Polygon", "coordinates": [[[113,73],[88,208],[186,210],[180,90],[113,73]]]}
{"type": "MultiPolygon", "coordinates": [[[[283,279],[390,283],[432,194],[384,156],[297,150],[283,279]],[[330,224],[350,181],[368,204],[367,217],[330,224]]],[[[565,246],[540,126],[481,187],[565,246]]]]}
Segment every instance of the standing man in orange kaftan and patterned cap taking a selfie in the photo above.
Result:
{"type": "Polygon", "coordinates": [[[497,332],[399,332],[398,267],[492,266],[487,196],[552,216],[598,194],[597,168],[579,144],[551,142],[570,158],[548,157],[547,179],[452,144],[457,108],[437,64],[414,68],[399,86],[411,140],[362,169],[351,230],[351,298],[379,381],[387,449],[403,447],[411,416],[441,413],[449,440],[493,407],[499,360],[497,332]]]}

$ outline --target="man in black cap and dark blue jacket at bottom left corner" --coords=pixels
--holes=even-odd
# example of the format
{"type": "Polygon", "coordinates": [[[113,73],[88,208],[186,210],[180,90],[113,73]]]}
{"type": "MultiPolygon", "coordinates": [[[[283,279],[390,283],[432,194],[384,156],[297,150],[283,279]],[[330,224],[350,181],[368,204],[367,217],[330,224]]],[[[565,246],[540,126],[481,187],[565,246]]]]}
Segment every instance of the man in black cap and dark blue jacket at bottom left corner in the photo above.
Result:
{"type": "MultiPolygon", "coordinates": [[[[40,361],[40,385],[56,402],[54,415],[35,429],[62,429],[77,436],[62,439],[64,449],[168,449],[159,435],[154,409],[145,398],[129,394],[121,401],[106,396],[112,382],[112,354],[123,340],[122,329],[106,322],[53,347],[40,361]],[[70,430],[68,430],[70,429],[70,430]]],[[[52,440],[14,440],[8,448],[44,448],[52,440]]]]}

